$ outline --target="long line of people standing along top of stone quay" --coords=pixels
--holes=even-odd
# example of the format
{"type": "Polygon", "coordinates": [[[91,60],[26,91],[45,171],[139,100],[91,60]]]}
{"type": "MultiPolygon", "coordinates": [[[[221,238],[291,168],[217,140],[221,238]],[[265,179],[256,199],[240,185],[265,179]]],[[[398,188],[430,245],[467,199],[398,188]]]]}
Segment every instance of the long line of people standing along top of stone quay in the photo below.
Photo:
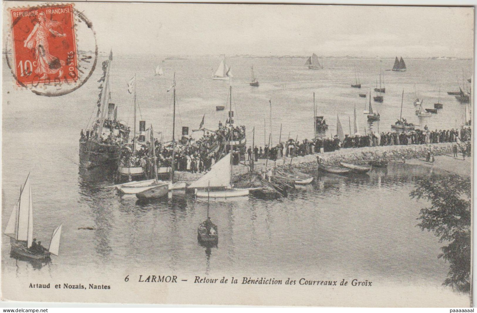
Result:
{"type": "MultiPolygon", "coordinates": [[[[293,140],[290,139],[284,146],[279,143],[269,149],[268,145],[264,149],[251,146],[247,149],[248,160],[252,158],[255,161],[258,159],[276,160],[283,156],[304,156],[313,153],[322,153],[336,151],[346,148],[361,148],[374,146],[389,146],[389,145],[408,145],[408,144],[425,144],[425,143],[439,143],[439,142],[456,142],[456,145],[464,146],[461,142],[466,142],[471,139],[472,132],[470,128],[463,128],[460,131],[452,130],[429,130],[425,126],[424,130],[412,131],[389,131],[382,132],[379,137],[371,132],[367,135],[345,135],[343,141],[338,136],[334,138],[315,138],[314,140],[293,140]]],[[[468,149],[467,146],[464,149],[468,149]]]]}

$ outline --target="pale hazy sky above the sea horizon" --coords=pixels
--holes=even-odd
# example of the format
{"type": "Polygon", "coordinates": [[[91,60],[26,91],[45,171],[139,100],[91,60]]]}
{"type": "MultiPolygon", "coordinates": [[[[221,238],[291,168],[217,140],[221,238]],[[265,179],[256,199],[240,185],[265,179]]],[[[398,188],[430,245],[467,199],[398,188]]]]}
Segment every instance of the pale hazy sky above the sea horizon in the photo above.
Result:
{"type": "Polygon", "coordinates": [[[161,55],[473,57],[472,8],[75,3],[100,51],[161,55]]]}

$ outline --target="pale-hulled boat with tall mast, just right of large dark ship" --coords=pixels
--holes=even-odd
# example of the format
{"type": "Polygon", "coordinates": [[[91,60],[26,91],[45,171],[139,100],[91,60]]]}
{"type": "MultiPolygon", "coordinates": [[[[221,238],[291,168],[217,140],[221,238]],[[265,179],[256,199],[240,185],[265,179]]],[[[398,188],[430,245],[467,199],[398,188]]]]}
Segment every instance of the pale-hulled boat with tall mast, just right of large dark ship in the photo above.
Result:
{"type": "MultiPolygon", "coordinates": [[[[145,175],[145,164],[142,166],[137,166],[137,164],[134,164],[134,157],[136,154],[136,143],[137,143],[137,138],[136,138],[136,83],[135,83],[135,76],[134,76],[134,82],[133,82],[133,88],[134,88],[134,128],[133,128],[133,143],[132,145],[124,145],[123,148],[121,149],[121,153],[119,156],[119,164],[118,164],[118,174],[123,177],[128,177],[129,180],[133,180],[134,177],[141,177],[145,175]],[[123,156],[126,155],[126,160],[124,162],[123,156]],[[127,157],[129,155],[129,157],[127,157]]],[[[139,131],[140,132],[145,132],[145,121],[139,121],[139,131]]]]}

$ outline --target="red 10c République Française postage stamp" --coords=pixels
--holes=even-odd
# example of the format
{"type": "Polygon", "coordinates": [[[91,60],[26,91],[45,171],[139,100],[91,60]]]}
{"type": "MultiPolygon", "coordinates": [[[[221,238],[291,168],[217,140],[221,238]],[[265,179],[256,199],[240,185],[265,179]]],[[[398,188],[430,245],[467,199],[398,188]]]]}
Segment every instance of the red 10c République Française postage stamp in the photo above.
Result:
{"type": "Polygon", "coordinates": [[[78,79],[73,4],[10,9],[19,86],[78,79]]]}

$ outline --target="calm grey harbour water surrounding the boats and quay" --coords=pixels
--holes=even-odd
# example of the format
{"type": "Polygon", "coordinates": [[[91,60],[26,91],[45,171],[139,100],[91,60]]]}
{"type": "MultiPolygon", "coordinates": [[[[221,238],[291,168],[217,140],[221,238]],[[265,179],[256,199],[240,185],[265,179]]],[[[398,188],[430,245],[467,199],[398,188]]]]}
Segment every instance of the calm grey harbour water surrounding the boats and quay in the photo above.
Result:
{"type": "MultiPolygon", "coordinates": [[[[227,113],[216,112],[215,106],[224,105],[228,93],[228,82],[209,78],[219,58],[166,60],[165,77],[155,77],[153,70],[162,58],[115,56],[113,101],[119,105],[121,119],[132,123],[132,97],[126,83],[136,74],[142,119],[163,131],[168,140],[172,108],[166,89],[176,71],[178,128],[196,128],[205,114],[205,126],[216,129],[218,120],[224,122],[227,113]]],[[[311,71],[303,67],[304,62],[228,59],[235,76],[236,122],[247,126],[250,143],[254,126],[256,140],[264,137],[263,119],[267,134],[270,130],[268,99],[272,99],[275,140],[280,136],[280,123],[282,140],[289,132],[299,139],[312,137],[313,91],[319,112],[329,124],[334,125],[339,114],[345,126],[354,105],[358,112],[363,110],[364,99],[357,94],[374,87],[381,65],[379,60],[325,60],[327,69],[311,71]],[[247,84],[252,63],[258,88],[247,84]],[[349,86],[354,81],[355,64],[361,90],[349,86]]],[[[382,66],[390,68],[392,63],[385,60],[382,66]]],[[[462,76],[462,68],[469,73],[471,61],[406,60],[406,64],[405,73],[385,72],[384,103],[373,105],[382,117],[379,129],[390,130],[389,125],[399,117],[403,88],[403,116],[408,121],[427,124],[431,129],[460,125],[465,106],[446,91],[457,89],[456,75],[462,76]],[[419,120],[412,105],[414,84],[429,108],[437,102],[441,86],[444,109],[432,118],[419,120]]],[[[114,183],[113,172],[80,169],[79,132],[92,112],[95,114],[96,81],[101,75],[98,71],[94,74],[72,94],[45,98],[29,91],[13,92],[10,73],[4,66],[3,88],[10,93],[4,94],[3,104],[2,229],[29,172],[34,236],[47,242],[52,230],[63,223],[60,256],[41,268],[10,258],[10,245],[4,241],[2,269],[7,273],[39,278],[60,272],[143,268],[270,277],[280,273],[317,278],[357,276],[379,283],[435,287],[444,281],[448,264],[437,259],[443,244],[432,233],[416,227],[419,210],[427,203],[409,197],[415,178],[431,172],[405,164],[355,177],[315,173],[317,179],[310,188],[275,201],[252,196],[212,201],[210,213],[219,227],[219,243],[217,248],[201,247],[197,226],[207,214],[206,201],[177,193],[172,199],[140,204],[135,197],[121,197],[114,189],[104,188],[114,183]]],[[[366,125],[367,131],[377,130],[377,124],[368,125],[365,115],[358,115],[361,128],[366,125]]],[[[335,131],[334,126],[331,131],[335,131]]]]}

